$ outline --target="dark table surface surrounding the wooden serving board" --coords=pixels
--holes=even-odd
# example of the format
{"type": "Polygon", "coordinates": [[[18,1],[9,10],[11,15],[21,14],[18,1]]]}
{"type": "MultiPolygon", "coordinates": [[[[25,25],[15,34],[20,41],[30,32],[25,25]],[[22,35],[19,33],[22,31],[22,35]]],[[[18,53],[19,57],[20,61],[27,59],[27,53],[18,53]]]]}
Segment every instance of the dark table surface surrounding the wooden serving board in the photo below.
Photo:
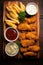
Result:
{"type": "MultiPolygon", "coordinates": [[[[4,1],[8,1],[8,0],[0,0],[0,61],[3,58],[3,3],[4,1]]],[[[21,1],[27,1],[27,0],[21,0],[21,1]]],[[[39,65],[43,62],[43,0],[29,0],[31,1],[37,1],[39,2],[39,7],[40,7],[40,59],[37,60],[11,60],[11,61],[5,61],[3,60],[3,62],[1,63],[3,65],[3,63],[5,63],[5,65],[9,64],[10,65],[28,65],[28,64],[32,64],[32,65],[39,65]],[[40,63],[41,61],[41,63],[40,63]]],[[[43,65],[43,64],[41,64],[43,65]]]]}

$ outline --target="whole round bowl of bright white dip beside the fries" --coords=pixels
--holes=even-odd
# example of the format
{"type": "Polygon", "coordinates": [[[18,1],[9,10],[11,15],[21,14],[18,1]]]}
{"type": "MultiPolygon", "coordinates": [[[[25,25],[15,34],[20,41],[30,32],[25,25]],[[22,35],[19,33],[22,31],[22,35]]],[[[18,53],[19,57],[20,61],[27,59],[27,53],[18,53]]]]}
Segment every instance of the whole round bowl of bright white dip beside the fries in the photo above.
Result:
{"type": "Polygon", "coordinates": [[[29,15],[35,15],[38,13],[38,5],[34,2],[30,2],[26,5],[26,12],[29,15]]]}

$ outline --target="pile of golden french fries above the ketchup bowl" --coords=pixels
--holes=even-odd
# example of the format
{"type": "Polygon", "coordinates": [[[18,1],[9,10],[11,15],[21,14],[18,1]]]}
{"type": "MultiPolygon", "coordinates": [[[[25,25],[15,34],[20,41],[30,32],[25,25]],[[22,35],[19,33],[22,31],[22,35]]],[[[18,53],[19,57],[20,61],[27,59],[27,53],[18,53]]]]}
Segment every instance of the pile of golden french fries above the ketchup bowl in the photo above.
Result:
{"type": "Polygon", "coordinates": [[[19,24],[18,16],[20,12],[25,11],[25,5],[22,2],[8,2],[6,5],[6,17],[5,22],[8,26],[17,28],[16,24],[19,24]]]}

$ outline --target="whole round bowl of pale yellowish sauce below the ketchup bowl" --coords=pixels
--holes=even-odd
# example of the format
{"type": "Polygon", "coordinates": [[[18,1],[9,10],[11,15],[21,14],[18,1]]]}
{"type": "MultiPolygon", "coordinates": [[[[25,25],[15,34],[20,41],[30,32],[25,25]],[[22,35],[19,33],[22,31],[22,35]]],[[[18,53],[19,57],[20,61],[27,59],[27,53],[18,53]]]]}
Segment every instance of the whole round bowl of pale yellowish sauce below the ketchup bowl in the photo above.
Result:
{"type": "Polygon", "coordinates": [[[16,56],[18,52],[19,52],[19,47],[16,43],[8,43],[5,46],[5,53],[10,57],[16,56]]]}

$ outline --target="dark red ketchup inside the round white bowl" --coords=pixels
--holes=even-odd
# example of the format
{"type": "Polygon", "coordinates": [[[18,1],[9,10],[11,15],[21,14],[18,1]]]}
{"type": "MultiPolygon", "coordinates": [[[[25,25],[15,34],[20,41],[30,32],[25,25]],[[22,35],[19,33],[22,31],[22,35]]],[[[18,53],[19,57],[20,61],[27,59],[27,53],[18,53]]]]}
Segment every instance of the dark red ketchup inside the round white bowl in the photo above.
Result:
{"type": "Polygon", "coordinates": [[[14,40],[16,39],[17,37],[17,31],[13,28],[10,28],[6,31],[6,37],[9,39],[9,40],[14,40]]]}

